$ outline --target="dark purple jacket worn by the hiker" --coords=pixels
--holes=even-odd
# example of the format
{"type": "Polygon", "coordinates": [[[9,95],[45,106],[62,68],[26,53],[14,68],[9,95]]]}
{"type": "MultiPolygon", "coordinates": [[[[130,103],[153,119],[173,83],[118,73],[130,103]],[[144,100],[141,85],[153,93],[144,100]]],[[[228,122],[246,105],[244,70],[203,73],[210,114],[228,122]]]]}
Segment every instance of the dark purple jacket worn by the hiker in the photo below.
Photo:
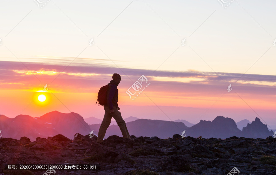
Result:
{"type": "Polygon", "coordinates": [[[118,83],[116,83],[114,80],[111,80],[109,85],[109,89],[107,92],[107,105],[110,110],[113,110],[113,106],[118,107],[118,89],[117,86],[119,85],[118,83]]]}

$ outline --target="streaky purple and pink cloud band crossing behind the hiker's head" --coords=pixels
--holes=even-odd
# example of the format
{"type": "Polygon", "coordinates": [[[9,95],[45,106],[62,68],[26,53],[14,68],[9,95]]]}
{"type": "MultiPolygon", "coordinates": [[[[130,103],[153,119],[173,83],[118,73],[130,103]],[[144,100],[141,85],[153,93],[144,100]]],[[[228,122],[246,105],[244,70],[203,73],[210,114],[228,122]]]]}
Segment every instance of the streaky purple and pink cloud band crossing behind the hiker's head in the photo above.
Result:
{"type": "MultiPolygon", "coordinates": [[[[47,84],[64,69],[64,65],[51,65],[42,63],[24,62],[24,65],[43,83],[47,84]]],[[[214,72],[201,72],[196,70],[187,70],[182,72],[177,71],[155,71],[145,69],[130,69],[121,68],[121,70],[132,80],[137,80],[141,75],[145,75],[151,79],[151,82],[156,82],[157,90],[162,91],[166,87],[166,91],[175,91],[179,86],[185,87],[186,92],[195,91],[217,91],[224,90],[224,86],[234,83],[242,74],[241,73],[220,73],[217,72],[228,84],[222,80],[214,72]],[[139,76],[139,77],[138,77],[139,76]],[[193,86],[193,88],[187,88],[193,86]]],[[[18,88],[20,83],[22,88],[33,89],[41,86],[37,84],[33,76],[21,63],[15,61],[0,61],[0,87],[1,88],[18,88]],[[25,84],[24,84],[25,82],[25,84]]],[[[79,88],[98,89],[98,87],[107,84],[111,80],[113,73],[120,73],[117,67],[106,66],[103,64],[83,64],[70,65],[57,78],[57,82],[49,84],[53,89],[62,89],[63,91],[77,91],[79,88]],[[59,87],[59,88],[58,88],[59,87]]],[[[122,82],[120,88],[129,88],[133,84],[125,75],[121,74],[122,82]]],[[[275,87],[276,76],[273,75],[258,75],[244,74],[235,84],[235,89],[244,91],[259,91],[258,93],[270,93],[273,95],[272,88],[275,87]],[[245,88],[247,87],[247,89],[245,88]],[[248,87],[251,87],[250,89],[248,87]],[[267,89],[269,91],[267,91],[267,89]],[[263,90],[260,90],[263,89],[263,90]],[[266,89],[264,91],[264,89],[266,89]],[[262,92],[263,91],[263,92],[262,92]]],[[[44,84],[44,85],[45,85],[44,84]]],[[[232,85],[233,86],[233,85],[232,85]]],[[[211,93],[213,94],[213,93],[211,93]]]]}

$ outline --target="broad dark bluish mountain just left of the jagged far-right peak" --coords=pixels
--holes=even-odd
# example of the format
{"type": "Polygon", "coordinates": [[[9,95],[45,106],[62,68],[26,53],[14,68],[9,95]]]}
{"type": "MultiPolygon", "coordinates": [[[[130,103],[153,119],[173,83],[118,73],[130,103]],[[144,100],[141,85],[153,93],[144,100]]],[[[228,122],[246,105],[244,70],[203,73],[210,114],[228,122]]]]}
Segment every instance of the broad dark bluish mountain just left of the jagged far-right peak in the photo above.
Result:
{"type": "Polygon", "coordinates": [[[213,121],[201,120],[196,125],[186,130],[187,136],[202,138],[221,138],[226,139],[232,136],[240,136],[241,131],[238,129],[232,118],[217,116],[213,121]]]}

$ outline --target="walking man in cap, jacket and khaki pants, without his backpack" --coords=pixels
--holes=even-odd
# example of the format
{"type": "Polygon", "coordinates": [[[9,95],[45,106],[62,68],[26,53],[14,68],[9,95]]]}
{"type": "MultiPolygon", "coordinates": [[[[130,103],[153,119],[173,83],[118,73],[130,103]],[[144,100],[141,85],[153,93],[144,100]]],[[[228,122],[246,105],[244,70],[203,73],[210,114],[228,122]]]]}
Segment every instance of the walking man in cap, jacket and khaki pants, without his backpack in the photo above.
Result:
{"type": "Polygon", "coordinates": [[[107,104],[104,106],[105,115],[99,129],[98,139],[97,139],[98,143],[103,142],[106,129],[109,127],[112,117],[116,120],[118,126],[120,127],[123,137],[130,139],[128,129],[125,125],[124,119],[121,116],[121,112],[119,111],[120,108],[118,106],[117,86],[119,85],[120,81],[121,81],[121,76],[117,73],[114,73],[112,76],[112,80],[108,84],[109,88],[107,92],[107,104]]]}

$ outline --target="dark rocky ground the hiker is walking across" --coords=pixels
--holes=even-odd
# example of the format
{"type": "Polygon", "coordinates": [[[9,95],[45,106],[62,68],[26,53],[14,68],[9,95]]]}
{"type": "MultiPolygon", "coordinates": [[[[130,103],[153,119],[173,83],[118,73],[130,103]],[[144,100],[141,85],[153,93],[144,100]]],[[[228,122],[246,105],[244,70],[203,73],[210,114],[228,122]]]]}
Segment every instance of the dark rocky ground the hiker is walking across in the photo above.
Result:
{"type": "MultiPolygon", "coordinates": [[[[63,135],[20,140],[0,138],[0,175],[34,174],[45,171],[7,171],[5,163],[98,163],[97,171],[59,171],[56,174],[161,174],[226,175],[236,167],[243,175],[276,174],[276,138],[221,139],[109,136],[102,144],[97,136],[63,135]]],[[[236,174],[235,174],[236,175],[236,174]]]]}

